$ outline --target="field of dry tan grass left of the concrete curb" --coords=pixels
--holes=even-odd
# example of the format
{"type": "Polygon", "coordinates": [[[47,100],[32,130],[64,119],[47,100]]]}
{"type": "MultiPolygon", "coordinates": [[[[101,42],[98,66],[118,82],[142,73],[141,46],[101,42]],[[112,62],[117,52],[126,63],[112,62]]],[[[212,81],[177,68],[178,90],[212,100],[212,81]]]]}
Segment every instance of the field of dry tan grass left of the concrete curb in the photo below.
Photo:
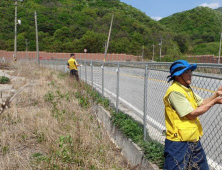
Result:
{"type": "Polygon", "coordinates": [[[15,67],[21,92],[0,115],[0,169],[131,169],[90,108],[79,106],[73,79],[31,63],[15,67]]]}

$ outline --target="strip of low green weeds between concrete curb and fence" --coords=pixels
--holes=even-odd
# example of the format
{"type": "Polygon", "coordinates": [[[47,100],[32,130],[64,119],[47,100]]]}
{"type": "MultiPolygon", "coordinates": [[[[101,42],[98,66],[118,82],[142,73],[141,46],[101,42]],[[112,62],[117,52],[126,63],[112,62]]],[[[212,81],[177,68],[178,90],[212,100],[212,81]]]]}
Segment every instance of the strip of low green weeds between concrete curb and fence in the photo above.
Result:
{"type": "Polygon", "coordinates": [[[115,108],[110,106],[109,100],[102,97],[97,91],[93,90],[91,86],[84,84],[81,87],[76,86],[78,92],[76,97],[79,100],[79,104],[82,107],[90,107],[90,102],[93,101],[96,104],[101,104],[107,110],[112,113],[112,121],[115,126],[117,126],[123,134],[130,138],[134,143],[136,143],[142,151],[144,152],[145,157],[152,163],[163,168],[164,163],[164,145],[160,144],[158,141],[152,140],[147,134],[147,141],[143,140],[143,125],[129,115],[118,112],[116,113],[115,108]],[[86,102],[87,101],[87,102],[86,102]],[[84,103],[84,104],[83,104],[84,103]],[[87,103],[87,104],[86,104],[87,103]]]}

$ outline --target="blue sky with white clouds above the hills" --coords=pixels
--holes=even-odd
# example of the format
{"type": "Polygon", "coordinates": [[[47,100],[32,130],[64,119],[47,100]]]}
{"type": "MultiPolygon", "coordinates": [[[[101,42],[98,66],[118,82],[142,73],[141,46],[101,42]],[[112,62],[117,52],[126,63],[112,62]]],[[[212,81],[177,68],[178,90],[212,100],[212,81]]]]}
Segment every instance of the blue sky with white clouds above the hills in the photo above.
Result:
{"type": "Polygon", "coordinates": [[[160,20],[174,13],[191,10],[198,6],[216,9],[222,7],[222,0],[120,0],[131,5],[152,19],[160,20]]]}

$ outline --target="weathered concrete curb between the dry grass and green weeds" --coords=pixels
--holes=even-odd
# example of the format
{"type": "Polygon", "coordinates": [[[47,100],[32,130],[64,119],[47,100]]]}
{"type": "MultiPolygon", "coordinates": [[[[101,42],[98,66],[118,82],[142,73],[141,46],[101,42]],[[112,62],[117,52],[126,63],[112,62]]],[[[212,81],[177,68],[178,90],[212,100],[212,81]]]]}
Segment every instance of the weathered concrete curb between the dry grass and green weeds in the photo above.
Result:
{"type": "Polygon", "coordinates": [[[97,105],[95,112],[98,121],[103,125],[113,142],[122,150],[123,155],[133,166],[141,170],[159,170],[157,165],[145,159],[143,152],[135,143],[125,137],[122,132],[112,124],[111,115],[108,111],[97,105]]]}

